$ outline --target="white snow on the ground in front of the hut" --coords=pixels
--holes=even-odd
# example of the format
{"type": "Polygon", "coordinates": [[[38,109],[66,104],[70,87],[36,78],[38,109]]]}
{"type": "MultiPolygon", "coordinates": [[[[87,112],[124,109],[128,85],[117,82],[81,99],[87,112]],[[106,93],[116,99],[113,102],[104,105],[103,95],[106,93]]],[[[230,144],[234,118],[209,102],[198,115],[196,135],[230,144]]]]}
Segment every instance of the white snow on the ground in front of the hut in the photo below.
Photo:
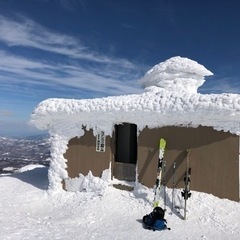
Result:
{"type": "MultiPolygon", "coordinates": [[[[109,185],[101,193],[48,191],[48,168],[30,165],[0,175],[0,239],[3,240],[140,240],[240,239],[240,204],[192,192],[188,219],[183,210],[171,214],[172,190],[167,189],[166,219],[171,230],[150,231],[141,219],[152,211],[153,189],[132,192],[109,185]]],[[[176,204],[183,204],[180,190],[176,204]]]]}

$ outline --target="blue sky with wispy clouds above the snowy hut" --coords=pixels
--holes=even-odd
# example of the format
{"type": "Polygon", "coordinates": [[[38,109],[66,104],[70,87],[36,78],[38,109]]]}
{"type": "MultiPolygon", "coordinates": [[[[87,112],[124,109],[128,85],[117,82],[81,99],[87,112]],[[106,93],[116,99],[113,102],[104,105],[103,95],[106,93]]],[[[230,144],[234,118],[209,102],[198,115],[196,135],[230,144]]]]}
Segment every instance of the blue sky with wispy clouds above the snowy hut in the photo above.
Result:
{"type": "Polygon", "coordinates": [[[238,0],[0,0],[0,136],[33,135],[51,97],[139,93],[155,64],[188,57],[214,73],[201,93],[240,93],[238,0]]]}

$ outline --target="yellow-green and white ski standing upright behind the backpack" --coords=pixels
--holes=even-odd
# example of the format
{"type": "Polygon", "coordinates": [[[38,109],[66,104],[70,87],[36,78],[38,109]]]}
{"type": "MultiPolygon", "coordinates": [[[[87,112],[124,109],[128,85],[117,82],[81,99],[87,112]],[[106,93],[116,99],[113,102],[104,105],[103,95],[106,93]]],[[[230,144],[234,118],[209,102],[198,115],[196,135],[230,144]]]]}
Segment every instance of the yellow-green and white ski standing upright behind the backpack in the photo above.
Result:
{"type": "Polygon", "coordinates": [[[163,167],[163,159],[164,159],[164,152],[166,149],[166,143],[167,143],[166,140],[163,138],[161,138],[159,141],[157,179],[156,179],[156,183],[155,183],[153,207],[157,207],[159,205],[161,179],[162,179],[162,167],[163,167]]]}

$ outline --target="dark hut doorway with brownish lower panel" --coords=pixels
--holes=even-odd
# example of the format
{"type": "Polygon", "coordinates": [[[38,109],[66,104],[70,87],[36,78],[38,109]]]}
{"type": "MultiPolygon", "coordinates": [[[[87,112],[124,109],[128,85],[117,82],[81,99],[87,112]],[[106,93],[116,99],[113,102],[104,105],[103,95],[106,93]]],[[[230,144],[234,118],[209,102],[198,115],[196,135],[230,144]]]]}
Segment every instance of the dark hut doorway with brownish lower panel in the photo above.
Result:
{"type": "Polygon", "coordinates": [[[115,125],[116,152],[113,176],[119,180],[136,180],[137,125],[115,125]]]}

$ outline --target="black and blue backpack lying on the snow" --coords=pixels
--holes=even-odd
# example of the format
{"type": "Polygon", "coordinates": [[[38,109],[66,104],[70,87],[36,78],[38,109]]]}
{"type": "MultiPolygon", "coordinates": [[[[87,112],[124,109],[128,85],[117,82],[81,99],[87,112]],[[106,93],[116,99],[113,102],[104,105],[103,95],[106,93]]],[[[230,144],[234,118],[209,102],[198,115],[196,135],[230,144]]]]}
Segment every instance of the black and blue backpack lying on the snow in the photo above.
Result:
{"type": "Polygon", "coordinates": [[[165,211],[160,207],[155,207],[150,214],[143,217],[143,227],[150,230],[164,230],[167,227],[167,221],[164,219],[165,211]]]}

